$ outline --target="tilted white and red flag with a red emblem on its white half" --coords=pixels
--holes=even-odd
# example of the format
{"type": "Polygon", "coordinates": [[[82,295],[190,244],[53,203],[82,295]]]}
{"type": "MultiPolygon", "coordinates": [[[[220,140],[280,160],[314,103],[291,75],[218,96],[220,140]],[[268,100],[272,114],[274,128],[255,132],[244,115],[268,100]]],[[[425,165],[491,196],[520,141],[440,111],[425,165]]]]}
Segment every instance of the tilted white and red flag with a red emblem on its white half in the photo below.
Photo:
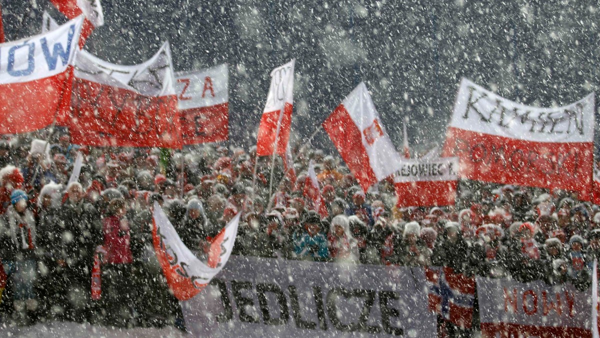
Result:
{"type": "Polygon", "coordinates": [[[367,192],[368,187],[398,171],[401,158],[361,82],[323,122],[335,148],[367,192]]]}

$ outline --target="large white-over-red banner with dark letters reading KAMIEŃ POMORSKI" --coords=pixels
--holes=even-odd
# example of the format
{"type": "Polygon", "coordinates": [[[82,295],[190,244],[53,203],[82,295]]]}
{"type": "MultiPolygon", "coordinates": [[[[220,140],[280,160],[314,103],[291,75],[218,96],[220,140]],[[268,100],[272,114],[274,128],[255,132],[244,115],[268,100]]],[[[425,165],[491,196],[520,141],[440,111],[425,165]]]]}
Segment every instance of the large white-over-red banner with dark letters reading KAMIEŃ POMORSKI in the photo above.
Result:
{"type": "Polygon", "coordinates": [[[589,199],[594,95],[568,106],[524,106],[463,79],[443,156],[460,158],[460,177],[577,191],[589,199]]]}

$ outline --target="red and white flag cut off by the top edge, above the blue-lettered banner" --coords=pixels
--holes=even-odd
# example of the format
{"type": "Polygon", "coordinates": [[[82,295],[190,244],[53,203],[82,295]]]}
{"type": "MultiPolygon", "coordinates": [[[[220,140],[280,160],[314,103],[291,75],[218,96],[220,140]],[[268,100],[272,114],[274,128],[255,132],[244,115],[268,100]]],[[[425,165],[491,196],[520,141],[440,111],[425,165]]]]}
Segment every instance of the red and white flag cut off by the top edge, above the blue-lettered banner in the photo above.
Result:
{"type": "MultiPolygon", "coordinates": [[[[79,38],[80,49],[83,48],[85,40],[92,34],[94,28],[104,25],[104,13],[100,0],[50,0],[50,2],[68,19],[82,15],[85,17],[79,38]]],[[[44,17],[43,29],[52,29],[52,26],[47,26],[46,22],[46,17],[44,17]]]]}

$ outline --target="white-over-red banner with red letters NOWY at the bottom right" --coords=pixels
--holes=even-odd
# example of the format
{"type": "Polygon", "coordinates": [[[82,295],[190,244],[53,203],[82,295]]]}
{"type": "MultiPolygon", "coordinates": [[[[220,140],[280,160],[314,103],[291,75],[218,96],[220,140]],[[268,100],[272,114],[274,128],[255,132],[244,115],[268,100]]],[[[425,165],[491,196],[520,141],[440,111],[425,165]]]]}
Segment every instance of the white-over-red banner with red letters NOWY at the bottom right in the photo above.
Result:
{"type": "Polygon", "coordinates": [[[590,292],[477,278],[482,337],[592,337],[590,292]]]}

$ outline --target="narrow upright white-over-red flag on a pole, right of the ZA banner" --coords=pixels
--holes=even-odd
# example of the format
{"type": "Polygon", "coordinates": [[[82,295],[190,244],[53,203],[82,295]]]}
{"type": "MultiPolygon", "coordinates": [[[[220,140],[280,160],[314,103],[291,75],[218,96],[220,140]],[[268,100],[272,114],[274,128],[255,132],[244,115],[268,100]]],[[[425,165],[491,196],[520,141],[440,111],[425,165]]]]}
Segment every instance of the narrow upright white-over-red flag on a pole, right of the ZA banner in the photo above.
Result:
{"type": "Polygon", "coordinates": [[[271,86],[260,118],[256,155],[284,156],[292,128],[295,60],[271,71],[271,86]]]}

